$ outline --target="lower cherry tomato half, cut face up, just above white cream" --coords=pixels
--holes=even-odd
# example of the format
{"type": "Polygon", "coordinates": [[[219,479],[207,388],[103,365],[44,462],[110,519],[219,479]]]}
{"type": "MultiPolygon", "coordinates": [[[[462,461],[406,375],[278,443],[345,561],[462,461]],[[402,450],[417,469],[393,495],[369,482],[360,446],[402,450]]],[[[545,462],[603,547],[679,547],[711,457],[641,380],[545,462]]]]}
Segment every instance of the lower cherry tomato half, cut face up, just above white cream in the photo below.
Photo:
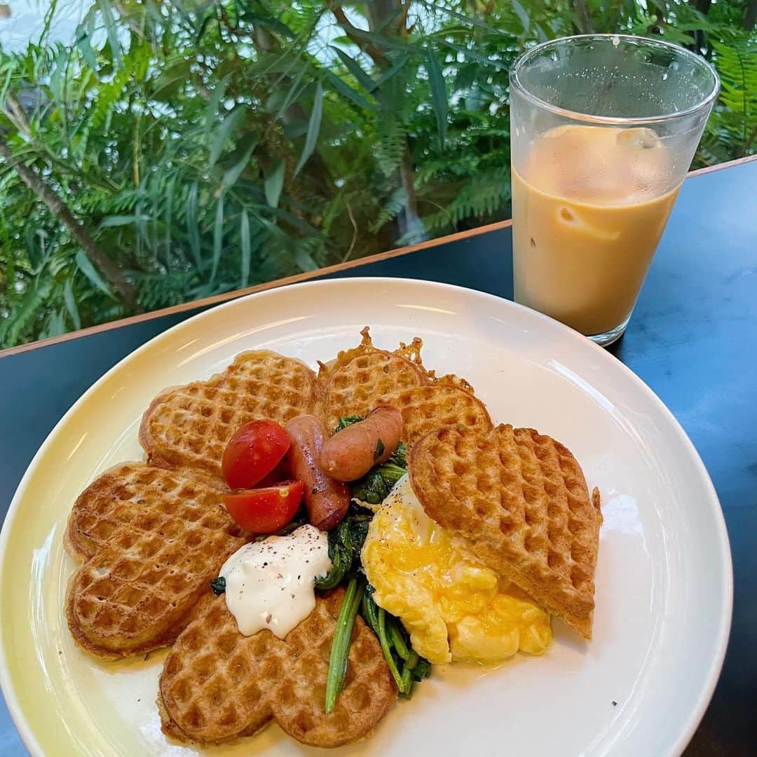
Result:
{"type": "Polygon", "coordinates": [[[298,511],[305,487],[302,481],[283,481],[264,489],[245,489],[226,494],[229,515],[254,534],[273,534],[284,528],[298,511]]]}

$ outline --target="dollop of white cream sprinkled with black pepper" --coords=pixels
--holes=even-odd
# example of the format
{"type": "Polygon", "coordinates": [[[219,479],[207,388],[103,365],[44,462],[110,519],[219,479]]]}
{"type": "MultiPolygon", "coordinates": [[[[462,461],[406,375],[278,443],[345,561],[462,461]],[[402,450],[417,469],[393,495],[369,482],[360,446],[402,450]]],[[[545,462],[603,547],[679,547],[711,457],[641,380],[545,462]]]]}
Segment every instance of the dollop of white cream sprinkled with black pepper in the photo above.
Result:
{"type": "Polygon", "coordinates": [[[313,581],[331,568],[329,538],[312,525],[240,547],[220,569],[239,632],[268,628],[283,639],[313,612],[313,581]]]}

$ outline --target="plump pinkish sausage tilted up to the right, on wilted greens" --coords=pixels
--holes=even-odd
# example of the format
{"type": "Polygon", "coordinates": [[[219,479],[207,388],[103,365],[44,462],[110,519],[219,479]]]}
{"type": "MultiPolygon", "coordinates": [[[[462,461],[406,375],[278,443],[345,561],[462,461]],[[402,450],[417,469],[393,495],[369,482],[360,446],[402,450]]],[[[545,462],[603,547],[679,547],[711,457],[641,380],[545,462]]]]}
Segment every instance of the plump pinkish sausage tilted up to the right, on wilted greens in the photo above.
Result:
{"type": "Polygon", "coordinates": [[[402,413],[382,405],[360,422],[343,428],[323,445],[321,467],[337,481],[357,481],[385,463],[402,438],[402,413]]]}

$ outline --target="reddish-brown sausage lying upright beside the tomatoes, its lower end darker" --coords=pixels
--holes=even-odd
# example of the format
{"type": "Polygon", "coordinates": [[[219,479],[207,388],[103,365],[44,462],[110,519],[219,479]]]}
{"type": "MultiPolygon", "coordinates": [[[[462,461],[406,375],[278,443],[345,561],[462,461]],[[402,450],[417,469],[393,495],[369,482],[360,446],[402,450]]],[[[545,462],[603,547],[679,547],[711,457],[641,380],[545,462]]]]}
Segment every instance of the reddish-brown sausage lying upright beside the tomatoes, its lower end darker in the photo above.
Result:
{"type": "Polygon", "coordinates": [[[292,477],[305,484],[305,507],[310,522],[322,531],[334,528],[350,506],[350,488],[329,478],[319,459],[323,428],[316,416],[297,416],[285,423],[291,438],[287,459],[292,477]]]}

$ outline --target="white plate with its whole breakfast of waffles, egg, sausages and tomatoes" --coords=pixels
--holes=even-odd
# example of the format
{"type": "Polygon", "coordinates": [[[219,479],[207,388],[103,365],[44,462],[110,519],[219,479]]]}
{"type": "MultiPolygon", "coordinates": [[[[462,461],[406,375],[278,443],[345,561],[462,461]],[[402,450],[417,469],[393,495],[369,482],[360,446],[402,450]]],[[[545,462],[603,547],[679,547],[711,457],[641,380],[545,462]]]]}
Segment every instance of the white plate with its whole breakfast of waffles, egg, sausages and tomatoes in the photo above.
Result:
{"type": "Polygon", "coordinates": [[[637,755],[702,717],[732,575],[699,456],[614,357],[341,279],[107,372],[21,481],[0,590],[33,755],[637,755]]]}

